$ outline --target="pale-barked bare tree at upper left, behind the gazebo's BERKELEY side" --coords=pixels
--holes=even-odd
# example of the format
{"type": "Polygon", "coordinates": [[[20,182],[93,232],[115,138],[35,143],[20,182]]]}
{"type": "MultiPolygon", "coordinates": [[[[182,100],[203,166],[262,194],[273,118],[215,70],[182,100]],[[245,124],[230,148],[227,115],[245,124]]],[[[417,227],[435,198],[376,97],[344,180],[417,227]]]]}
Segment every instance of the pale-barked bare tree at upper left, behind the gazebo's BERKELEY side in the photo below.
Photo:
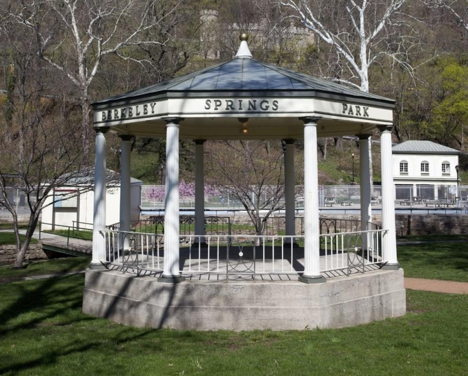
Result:
{"type": "Polygon", "coordinates": [[[133,47],[167,44],[170,28],[158,35],[160,39],[153,38],[152,31],[179,5],[179,0],[19,0],[9,1],[2,12],[33,31],[39,56],[78,89],[86,144],[90,87],[102,61],[117,55],[154,67],[152,58],[135,53],[133,47]]]}

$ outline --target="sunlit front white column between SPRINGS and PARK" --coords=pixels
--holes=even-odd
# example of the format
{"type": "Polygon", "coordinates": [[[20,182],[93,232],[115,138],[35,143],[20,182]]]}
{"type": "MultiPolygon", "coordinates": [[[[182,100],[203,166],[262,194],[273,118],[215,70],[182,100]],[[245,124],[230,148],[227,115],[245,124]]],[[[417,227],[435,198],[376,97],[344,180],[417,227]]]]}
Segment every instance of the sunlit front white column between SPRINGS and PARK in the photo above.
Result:
{"type": "Polygon", "coordinates": [[[304,274],[299,281],[325,282],[320,274],[318,219],[317,121],[304,118],[304,274]]]}

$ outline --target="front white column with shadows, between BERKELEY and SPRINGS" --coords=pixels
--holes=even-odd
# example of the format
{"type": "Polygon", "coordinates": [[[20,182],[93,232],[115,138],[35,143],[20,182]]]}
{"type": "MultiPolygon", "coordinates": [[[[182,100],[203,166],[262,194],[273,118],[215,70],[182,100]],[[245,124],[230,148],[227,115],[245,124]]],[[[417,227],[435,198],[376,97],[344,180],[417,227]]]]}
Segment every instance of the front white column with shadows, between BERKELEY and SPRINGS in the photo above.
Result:
{"type": "Polygon", "coordinates": [[[164,202],[164,270],[159,282],[181,282],[179,273],[179,121],[166,120],[166,197],[164,202]]]}

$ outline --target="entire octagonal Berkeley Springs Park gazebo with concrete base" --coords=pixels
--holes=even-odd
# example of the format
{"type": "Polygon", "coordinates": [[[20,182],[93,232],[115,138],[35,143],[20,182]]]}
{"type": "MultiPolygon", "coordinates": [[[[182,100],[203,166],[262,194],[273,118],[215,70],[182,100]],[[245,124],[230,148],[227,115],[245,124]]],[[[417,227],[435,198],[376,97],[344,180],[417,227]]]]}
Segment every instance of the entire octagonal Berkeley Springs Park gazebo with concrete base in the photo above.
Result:
{"type": "Polygon", "coordinates": [[[391,167],[393,107],[391,99],[257,61],[246,35],[230,61],[93,103],[93,253],[83,311],[138,326],[235,330],[337,327],[404,315],[391,167]],[[381,132],[382,228],[371,222],[368,143],[375,129],[381,132]],[[120,219],[112,228],[105,226],[108,131],[121,138],[120,219]],[[359,137],[361,224],[351,233],[320,235],[317,136],[337,135],[359,137]],[[130,228],[130,144],[138,136],[166,138],[163,232],[157,226],[141,233],[130,228]],[[195,141],[195,234],[184,239],[181,138],[195,141]],[[284,236],[253,242],[253,236],[205,233],[204,142],[239,139],[286,142],[284,236]],[[303,236],[296,234],[294,219],[295,139],[304,139],[303,236]]]}

